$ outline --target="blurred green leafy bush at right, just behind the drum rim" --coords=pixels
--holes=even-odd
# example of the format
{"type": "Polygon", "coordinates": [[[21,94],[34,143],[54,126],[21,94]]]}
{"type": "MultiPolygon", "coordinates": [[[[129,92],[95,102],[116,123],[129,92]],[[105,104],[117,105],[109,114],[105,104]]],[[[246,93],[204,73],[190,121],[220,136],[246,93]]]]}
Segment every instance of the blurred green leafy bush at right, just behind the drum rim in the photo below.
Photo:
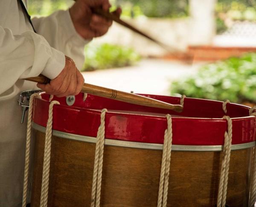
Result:
{"type": "Polygon", "coordinates": [[[208,64],[192,77],[172,82],[172,94],[231,102],[256,102],[256,53],[208,64]]]}

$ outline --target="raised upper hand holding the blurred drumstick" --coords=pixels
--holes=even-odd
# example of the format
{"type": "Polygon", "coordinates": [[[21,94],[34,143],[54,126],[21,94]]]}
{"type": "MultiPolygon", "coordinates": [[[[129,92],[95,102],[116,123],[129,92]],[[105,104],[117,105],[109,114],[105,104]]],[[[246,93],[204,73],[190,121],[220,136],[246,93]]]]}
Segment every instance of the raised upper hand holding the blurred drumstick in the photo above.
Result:
{"type": "MultiPolygon", "coordinates": [[[[70,8],[70,16],[78,34],[84,39],[92,39],[107,33],[112,20],[93,14],[91,8],[102,8],[108,11],[111,7],[108,0],[77,0],[70,8]]],[[[120,8],[113,12],[120,17],[120,8]]]]}

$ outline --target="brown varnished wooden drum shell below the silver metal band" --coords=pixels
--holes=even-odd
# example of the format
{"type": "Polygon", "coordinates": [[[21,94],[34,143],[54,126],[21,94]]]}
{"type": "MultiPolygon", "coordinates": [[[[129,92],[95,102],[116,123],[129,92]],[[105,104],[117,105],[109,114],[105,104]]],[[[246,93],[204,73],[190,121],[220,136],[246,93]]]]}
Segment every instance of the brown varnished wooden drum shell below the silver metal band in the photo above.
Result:
{"type": "MultiPolygon", "coordinates": [[[[38,105],[39,99],[35,107],[38,105]]],[[[38,122],[35,113],[33,116],[38,122]]],[[[44,137],[45,133],[36,130],[32,207],[40,206],[44,137]]],[[[241,143],[254,141],[255,131],[250,137],[241,143]]],[[[100,206],[156,207],[162,153],[105,145],[100,206]]],[[[230,207],[248,205],[251,156],[251,147],[231,151],[226,201],[230,207]]],[[[48,207],[90,207],[94,157],[95,143],[52,136],[48,207]]],[[[214,207],[221,159],[221,151],[173,150],[167,206],[214,207]]]]}

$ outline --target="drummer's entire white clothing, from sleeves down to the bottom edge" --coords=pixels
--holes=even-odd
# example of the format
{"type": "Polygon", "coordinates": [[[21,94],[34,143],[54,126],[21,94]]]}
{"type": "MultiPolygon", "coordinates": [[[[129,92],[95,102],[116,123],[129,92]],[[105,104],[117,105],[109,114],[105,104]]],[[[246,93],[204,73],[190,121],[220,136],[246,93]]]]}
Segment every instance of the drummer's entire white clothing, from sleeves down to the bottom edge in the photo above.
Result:
{"type": "Polygon", "coordinates": [[[32,22],[38,34],[17,0],[0,1],[0,207],[20,207],[22,202],[26,121],[20,124],[17,99],[20,91],[35,88],[22,78],[55,78],[64,68],[64,54],[78,68],[84,62],[87,41],[76,33],[68,11],[32,22]]]}

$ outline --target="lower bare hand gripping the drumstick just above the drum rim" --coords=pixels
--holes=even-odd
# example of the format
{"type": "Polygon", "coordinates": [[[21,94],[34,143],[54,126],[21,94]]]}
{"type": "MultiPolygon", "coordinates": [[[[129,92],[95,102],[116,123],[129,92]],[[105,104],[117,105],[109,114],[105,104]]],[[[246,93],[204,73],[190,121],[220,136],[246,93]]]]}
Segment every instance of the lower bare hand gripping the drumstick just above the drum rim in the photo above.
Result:
{"type": "Polygon", "coordinates": [[[77,95],[84,85],[84,78],[76,68],[74,61],[66,56],[66,64],[61,73],[52,79],[47,84],[38,83],[38,88],[41,88],[47,94],[52,94],[57,97],[77,95]]]}

